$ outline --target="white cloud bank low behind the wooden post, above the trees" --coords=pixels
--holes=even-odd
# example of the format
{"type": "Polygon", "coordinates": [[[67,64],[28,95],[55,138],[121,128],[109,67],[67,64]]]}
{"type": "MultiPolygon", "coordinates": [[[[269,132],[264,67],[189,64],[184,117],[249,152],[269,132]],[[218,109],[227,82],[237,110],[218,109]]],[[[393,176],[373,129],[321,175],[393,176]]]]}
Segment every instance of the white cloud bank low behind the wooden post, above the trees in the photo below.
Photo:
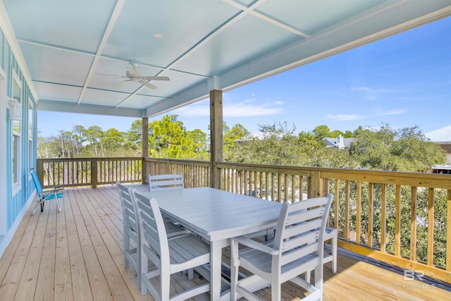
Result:
{"type": "MultiPolygon", "coordinates": [[[[283,102],[273,102],[271,104],[257,104],[257,99],[245,99],[237,104],[224,103],[223,116],[225,117],[249,117],[249,116],[268,116],[281,113],[283,108],[280,105],[283,102]]],[[[173,112],[180,116],[210,116],[209,104],[194,104],[183,106],[173,112]]]]}

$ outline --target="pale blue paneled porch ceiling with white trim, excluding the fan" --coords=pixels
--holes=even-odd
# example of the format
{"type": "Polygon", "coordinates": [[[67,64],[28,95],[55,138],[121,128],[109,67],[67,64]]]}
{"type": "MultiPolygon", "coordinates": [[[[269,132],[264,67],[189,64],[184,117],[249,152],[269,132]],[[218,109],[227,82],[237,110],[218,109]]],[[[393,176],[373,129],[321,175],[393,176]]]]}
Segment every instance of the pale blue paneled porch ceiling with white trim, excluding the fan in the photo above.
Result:
{"type": "Polygon", "coordinates": [[[450,0],[1,2],[38,109],[135,117],[451,15],[450,0]],[[130,60],[171,80],[115,86],[130,60]]]}

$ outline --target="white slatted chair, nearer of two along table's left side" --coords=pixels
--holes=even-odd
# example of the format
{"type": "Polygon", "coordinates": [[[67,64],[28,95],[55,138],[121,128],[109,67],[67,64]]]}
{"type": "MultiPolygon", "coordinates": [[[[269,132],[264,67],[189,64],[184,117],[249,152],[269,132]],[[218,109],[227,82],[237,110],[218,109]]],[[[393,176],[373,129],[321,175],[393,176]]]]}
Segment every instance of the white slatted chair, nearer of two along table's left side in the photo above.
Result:
{"type": "MultiPolygon", "coordinates": [[[[209,264],[210,246],[194,235],[178,236],[168,240],[163,216],[156,199],[148,199],[136,190],[141,236],[141,295],[147,290],[154,300],[187,300],[190,297],[209,292],[210,283],[197,285],[171,296],[171,275],[197,266],[209,264]],[[152,263],[149,265],[149,263],[152,263]],[[159,288],[152,278],[160,276],[159,288]]],[[[192,279],[192,273],[188,273],[192,279]]]]}

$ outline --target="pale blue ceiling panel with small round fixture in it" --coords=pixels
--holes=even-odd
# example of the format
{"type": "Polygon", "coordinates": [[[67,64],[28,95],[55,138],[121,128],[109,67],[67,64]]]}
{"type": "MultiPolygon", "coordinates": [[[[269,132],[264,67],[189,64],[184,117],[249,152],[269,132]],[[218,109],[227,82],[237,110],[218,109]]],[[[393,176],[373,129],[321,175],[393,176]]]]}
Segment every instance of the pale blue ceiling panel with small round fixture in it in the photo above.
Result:
{"type": "Polygon", "coordinates": [[[237,12],[220,0],[125,1],[104,54],[166,67],[237,12]]]}

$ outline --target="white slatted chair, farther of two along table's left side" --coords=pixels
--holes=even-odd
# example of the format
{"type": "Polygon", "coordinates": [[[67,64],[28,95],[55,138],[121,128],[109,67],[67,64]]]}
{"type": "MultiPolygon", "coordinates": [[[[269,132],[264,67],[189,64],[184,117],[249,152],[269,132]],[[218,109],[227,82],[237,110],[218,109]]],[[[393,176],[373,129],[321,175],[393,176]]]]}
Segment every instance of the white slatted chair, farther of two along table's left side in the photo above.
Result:
{"type": "MultiPolygon", "coordinates": [[[[124,235],[124,267],[132,266],[137,274],[137,285],[141,287],[141,252],[140,247],[140,225],[137,222],[137,204],[132,195],[134,188],[127,187],[120,182],[116,182],[118,188],[119,198],[122,205],[123,216],[123,235],[124,235]],[[130,241],[131,240],[131,241],[130,241]]],[[[184,228],[176,226],[174,223],[165,223],[166,232],[168,235],[176,236],[188,233],[184,228]]]]}

